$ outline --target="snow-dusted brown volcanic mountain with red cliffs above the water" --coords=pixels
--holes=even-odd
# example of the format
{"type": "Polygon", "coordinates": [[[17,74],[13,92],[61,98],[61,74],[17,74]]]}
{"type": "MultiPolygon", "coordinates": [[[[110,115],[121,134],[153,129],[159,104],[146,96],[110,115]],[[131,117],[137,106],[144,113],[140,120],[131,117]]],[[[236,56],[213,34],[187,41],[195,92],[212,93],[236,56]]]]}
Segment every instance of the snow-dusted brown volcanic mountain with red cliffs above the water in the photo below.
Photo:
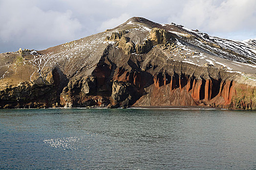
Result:
{"type": "Polygon", "coordinates": [[[43,51],[0,54],[0,107],[256,109],[256,40],[142,17],[43,51]]]}

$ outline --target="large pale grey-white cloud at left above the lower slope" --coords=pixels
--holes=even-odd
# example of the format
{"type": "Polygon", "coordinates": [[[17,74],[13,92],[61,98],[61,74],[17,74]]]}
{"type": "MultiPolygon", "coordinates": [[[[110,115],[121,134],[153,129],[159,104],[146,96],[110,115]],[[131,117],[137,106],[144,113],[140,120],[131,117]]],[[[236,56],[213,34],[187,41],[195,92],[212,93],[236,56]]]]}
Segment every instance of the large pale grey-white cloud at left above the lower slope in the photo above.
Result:
{"type": "Polygon", "coordinates": [[[33,48],[32,45],[41,44],[57,45],[67,39],[78,38],[76,33],[82,28],[81,23],[72,18],[70,10],[43,11],[33,3],[12,5],[11,2],[5,1],[1,3],[0,16],[7,14],[7,17],[0,17],[1,47],[10,44],[22,45],[23,48],[33,48]]]}

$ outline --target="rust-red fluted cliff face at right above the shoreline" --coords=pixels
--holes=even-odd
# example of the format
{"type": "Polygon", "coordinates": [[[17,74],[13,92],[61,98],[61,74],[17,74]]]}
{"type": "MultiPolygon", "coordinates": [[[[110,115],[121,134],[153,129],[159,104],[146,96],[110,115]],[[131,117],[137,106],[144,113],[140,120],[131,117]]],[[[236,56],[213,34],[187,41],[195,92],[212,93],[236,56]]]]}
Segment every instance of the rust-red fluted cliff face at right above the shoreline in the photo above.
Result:
{"type": "MultiPolygon", "coordinates": [[[[204,105],[234,109],[237,108],[237,105],[241,105],[241,108],[253,108],[251,101],[241,100],[240,103],[233,103],[241,96],[241,94],[236,94],[235,89],[245,88],[245,85],[236,84],[234,81],[200,80],[183,74],[173,76],[158,74],[153,77],[153,81],[153,85],[149,87],[149,94],[142,96],[134,104],[135,106],[204,105]]],[[[247,88],[251,89],[250,93],[253,89],[254,92],[256,91],[256,88],[251,86],[247,86],[247,88]]],[[[244,96],[244,98],[246,97],[244,96]]]]}

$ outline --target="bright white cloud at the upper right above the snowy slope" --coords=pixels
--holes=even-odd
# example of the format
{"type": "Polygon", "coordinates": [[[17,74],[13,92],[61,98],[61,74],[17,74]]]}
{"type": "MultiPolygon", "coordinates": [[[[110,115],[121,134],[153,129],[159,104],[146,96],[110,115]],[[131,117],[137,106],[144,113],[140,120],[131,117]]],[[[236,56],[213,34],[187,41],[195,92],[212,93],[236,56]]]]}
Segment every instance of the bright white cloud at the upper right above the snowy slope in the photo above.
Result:
{"type": "Polygon", "coordinates": [[[204,32],[253,31],[256,0],[190,0],[178,15],[169,17],[186,27],[204,32]]]}

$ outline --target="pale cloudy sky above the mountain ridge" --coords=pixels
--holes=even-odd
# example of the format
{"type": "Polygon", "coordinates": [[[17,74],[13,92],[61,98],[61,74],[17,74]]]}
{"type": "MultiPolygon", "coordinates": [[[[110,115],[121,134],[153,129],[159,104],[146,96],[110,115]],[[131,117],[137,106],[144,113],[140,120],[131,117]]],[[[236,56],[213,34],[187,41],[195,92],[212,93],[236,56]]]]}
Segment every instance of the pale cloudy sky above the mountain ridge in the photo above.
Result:
{"type": "Polygon", "coordinates": [[[0,52],[43,50],[130,17],[174,22],[220,38],[256,38],[256,0],[0,0],[0,52]]]}

